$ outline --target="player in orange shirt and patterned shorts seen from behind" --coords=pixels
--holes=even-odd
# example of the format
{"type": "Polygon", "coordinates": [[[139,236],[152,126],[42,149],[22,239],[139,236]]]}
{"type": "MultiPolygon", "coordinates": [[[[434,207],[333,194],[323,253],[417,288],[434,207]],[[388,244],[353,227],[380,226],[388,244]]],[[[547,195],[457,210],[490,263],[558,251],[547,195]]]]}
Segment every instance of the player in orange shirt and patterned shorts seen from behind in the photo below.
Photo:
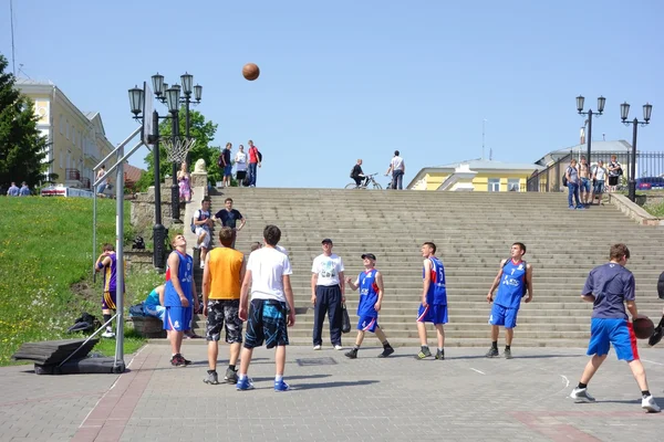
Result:
{"type": "Polygon", "coordinates": [[[221,328],[226,328],[226,343],[229,344],[228,368],[224,380],[238,381],[236,364],[242,346],[242,322],[239,318],[240,285],[245,278],[245,255],[231,249],[236,232],[231,228],[219,231],[220,248],[207,255],[203,272],[203,314],[207,317],[206,338],[208,341],[209,369],[204,382],[219,383],[217,356],[221,328]],[[225,324],[226,323],[226,324],[225,324]]]}

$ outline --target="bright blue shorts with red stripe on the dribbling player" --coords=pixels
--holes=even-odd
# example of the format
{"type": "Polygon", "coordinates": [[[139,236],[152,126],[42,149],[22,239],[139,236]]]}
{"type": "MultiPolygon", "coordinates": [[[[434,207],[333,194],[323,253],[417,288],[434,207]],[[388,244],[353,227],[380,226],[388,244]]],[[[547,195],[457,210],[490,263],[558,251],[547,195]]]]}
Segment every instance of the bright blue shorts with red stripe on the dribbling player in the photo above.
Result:
{"type": "Polygon", "coordinates": [[[588,355],[604,356],[613,345],[619,360],[627,362],[639,359],[636,335],[627,319],[592,318],[590,322],[590,344],[588,355]]]}

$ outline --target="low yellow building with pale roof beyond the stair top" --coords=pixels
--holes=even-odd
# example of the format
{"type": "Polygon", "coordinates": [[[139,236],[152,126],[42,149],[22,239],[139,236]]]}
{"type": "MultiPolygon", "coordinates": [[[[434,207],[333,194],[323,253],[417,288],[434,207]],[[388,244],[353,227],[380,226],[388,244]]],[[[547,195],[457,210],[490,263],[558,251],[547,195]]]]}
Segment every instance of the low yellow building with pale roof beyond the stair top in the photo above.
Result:
{"type": "Polygon", "coordinates": [[[445,166],[425,167],[417,172],[407,189],[525,192],[528,177],[541,169],[542,166],[535,164],[471,159],[445,166]]]}

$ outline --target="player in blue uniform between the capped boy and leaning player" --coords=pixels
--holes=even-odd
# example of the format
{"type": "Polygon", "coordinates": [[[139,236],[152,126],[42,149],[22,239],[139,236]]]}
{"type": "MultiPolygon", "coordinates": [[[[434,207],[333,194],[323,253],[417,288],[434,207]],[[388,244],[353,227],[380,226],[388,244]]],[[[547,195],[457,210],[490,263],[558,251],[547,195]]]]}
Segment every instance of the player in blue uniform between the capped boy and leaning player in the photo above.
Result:
{"type": "Polygon", "coordinates": [[[436,359],[445,359],[445,330],[443,325],[447,324],[447,290],[445,287],[445,269],[443,262],[436,257],[436,244],[425,242],[422,244],[422,256],[424,267],[422,271],[423,290],[422,303],[417,312],[417,334],[422,345],[415,359],[424,359],[432,356],[426,340],[425,323],[433,323],[438,336],[438,350],[436,359]]]}

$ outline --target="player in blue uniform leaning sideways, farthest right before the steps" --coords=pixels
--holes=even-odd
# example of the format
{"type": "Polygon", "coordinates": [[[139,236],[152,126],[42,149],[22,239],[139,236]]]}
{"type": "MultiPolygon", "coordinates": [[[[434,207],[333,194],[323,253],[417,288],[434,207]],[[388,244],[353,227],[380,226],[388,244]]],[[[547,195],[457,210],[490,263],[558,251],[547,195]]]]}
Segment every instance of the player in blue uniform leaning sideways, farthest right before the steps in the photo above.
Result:
{"type": "Polygon", "coordinates": [[[505,359],[511,359],[511,341],[515,337],[517,315],[521,306],[521,298],[528,292],[525,302],[532,301],[532,266],[522,260],[526,254],[526,244],[515,242],[510,249],[509,260],[500,261],[500,270],[494,278],[494,284],[487,295],[487,301],[494,303],[489,324],[491,325],[491,348],[486,354],[487,358],[496,358],[498,354],[499,327],[505,327],[505,359]],[[498,288],[494,299],[494,291],[498,288]]]}

